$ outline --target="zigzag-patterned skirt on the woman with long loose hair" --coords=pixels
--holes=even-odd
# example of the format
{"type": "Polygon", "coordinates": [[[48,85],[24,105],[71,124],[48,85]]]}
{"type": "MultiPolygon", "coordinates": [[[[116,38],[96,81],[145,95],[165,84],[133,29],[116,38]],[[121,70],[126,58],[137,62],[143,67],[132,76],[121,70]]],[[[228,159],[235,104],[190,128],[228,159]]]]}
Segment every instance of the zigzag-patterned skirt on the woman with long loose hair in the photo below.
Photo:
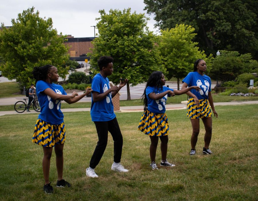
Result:
{"type": "Polygon", "coordinates": [[[139,122],[138,130],[150,136],[168,135],[169,125],[166,113],[154,114],[145,110],[139,122]]]}

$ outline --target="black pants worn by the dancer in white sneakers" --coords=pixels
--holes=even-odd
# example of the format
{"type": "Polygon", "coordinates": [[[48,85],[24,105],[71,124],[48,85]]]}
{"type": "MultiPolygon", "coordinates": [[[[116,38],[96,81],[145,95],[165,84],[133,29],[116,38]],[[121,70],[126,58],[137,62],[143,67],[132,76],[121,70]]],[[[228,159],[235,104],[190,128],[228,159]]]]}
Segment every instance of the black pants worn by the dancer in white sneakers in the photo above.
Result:
{"type": "Polygon", "coordinates": [[[107,146],[108,131],[111,133],[114,140],[114,162],[119,163],[122,155],[123,136],[117,119],[114,118],[110,121],[95,121],[94,123],[97,129],[99,141],[97,142],[97,146],[91,157],[90,167],[94,169],[97,164],[99,164],[107,146]]]}

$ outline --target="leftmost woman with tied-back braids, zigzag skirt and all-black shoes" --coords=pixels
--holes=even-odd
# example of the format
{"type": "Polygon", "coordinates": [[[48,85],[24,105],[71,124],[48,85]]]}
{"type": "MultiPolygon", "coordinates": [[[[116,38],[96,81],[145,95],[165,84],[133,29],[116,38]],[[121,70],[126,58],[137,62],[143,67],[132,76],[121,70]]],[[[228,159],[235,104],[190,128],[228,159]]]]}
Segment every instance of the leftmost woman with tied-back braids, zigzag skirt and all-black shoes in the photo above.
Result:
{"type": "Polygon", "coordinates": [[[44,157],[42,160],[45,193],[53,193],[54,189],[49,182],[49,169],[52,150],[56,154],[57,183],[56,187],[71,187],[71,184],[63,179],[63,148],[65,141],[64,115],[61,111],[61,102],[71,104],[79,101],[92,90],[87,88],[86,93],[78,95],[75,91],[67,95],[61,85],[57,82],[59,75],[57,68],[52,65],[35,67],[32,71],[36,79],[36,93],[40,104],[40,114],[36,121],[32,142],[43,147],[44,157]]]}

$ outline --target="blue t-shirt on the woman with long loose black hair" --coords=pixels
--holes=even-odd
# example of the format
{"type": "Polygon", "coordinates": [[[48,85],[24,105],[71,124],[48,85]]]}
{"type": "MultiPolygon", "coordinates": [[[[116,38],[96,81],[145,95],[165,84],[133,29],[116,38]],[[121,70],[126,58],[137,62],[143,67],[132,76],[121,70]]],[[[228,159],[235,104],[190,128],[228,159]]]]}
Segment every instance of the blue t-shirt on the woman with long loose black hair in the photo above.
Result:
{"type": "Polygon", "coordinates": [[[153,100],[152,98],[149,97],[150,93],[162,93],[164,91],[167,90],[171,90],[174,91],[174,89],[170,89],[168,87],[163,86],[162,88],[156,88],[156,87],[147,87],[146,88],[146,97],[148,99],[148,110],[150,112],[153,112],[155,114],[159,114],[159,113],[165,113],[166,108],[166,102],[167,102],[167,97],[170,97],[170,94],[165,95],[163,98],[159,99],[159,100],[153,100]]]}

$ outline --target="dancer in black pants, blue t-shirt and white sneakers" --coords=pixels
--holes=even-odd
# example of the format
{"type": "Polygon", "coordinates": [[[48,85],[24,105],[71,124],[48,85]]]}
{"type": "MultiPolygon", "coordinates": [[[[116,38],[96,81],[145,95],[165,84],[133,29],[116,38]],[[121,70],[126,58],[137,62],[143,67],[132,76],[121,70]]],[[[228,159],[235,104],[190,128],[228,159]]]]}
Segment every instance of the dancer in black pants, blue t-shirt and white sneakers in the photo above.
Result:
{"type": "Polygon", "coordinates": [[[126,85],[128,79],[121,81],[119,86],[110,87],[107,76],[111,75],[113,72],[113,58],[109,56],[100,57],[98,66],[100,72],[94,76],[91,84],[93,90],[91,96],[91,119],[95,123],[99,141],[91,157],[89,167],[86,169],[86,175],[93,178],[98,177],[94,169],[97,164],[99,164],[106,149],[108,131],[111,133],[114,140],[114,163],[111,166],[111,170],[128,172],[128,170],[120,164],[123,136],[112,103],[112,98],[126,85]]]}

